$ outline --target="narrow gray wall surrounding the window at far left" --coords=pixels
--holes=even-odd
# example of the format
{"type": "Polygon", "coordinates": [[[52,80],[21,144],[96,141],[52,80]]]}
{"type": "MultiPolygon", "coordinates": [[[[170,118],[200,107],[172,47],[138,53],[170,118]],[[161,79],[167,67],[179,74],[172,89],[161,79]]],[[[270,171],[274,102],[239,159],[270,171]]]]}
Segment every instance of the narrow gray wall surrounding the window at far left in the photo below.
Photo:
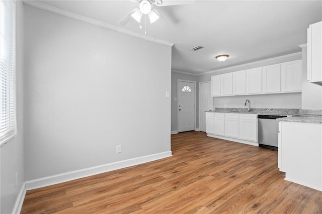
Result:
{"type": "Polygon", "coordinates": [[[12,213],[17,196],[24,182],[24,5],[16,2],[17,7],[17,136],[0,147],[0,213],[12,213]],[[16,186],[16,172],[17,186],[16,186]]]}

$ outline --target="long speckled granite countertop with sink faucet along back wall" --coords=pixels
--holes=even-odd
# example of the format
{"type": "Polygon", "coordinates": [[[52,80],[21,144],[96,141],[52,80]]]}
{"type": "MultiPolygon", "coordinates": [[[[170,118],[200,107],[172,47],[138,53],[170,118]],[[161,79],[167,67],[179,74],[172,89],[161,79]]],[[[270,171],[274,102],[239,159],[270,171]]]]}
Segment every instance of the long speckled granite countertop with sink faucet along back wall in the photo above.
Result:
{"type": "Polygon", "coordinates": [[[256,114],[256,115],[299,115],[299,109],[251,109],[249,112],[247,108],[215,108],[214,111],[205,112],[217,112],[217,113],[238,113],[238,114],[256,114]]]}

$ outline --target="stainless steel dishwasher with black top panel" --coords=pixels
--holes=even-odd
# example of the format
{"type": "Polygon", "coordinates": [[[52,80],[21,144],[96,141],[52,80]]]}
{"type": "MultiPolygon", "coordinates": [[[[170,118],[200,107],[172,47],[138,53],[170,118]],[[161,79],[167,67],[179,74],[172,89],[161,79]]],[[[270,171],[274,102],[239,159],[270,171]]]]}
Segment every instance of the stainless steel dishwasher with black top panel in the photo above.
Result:
{"type": "Polygon", "coordinates": [[[287,116],[258,115],[258,144],[268,149],[278,149],[278,118],[287,116]]]}

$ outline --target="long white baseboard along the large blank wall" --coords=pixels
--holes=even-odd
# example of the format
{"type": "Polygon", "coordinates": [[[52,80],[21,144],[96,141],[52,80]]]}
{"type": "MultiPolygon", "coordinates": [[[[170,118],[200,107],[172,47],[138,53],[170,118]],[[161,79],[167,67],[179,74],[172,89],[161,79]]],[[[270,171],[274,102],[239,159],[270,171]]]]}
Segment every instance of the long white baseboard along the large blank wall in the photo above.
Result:
{"type": "Polygon", "coordinates": [[[171,157],[172,152],[162,152],[152,155],[146,155],[138,158],[127,159],[123,161],[118,161],[109,164],[103,164],[100,166],[90,167],[81,170],[75,170],[71,172],[65,172],[57,175],[52,175],[44,178],[39,178],[35,180],[26,181],[26,190],[37,189],[44,186],[50,186],[57,183],[63,183],[66,181],[71,181],[79,178],[88,177],[91,175],[96,175],[104,172],[113,171],[116,169],[121,169],[129,166],[134,166],[137,164],[142,164],[162,158],[171,157]]]}

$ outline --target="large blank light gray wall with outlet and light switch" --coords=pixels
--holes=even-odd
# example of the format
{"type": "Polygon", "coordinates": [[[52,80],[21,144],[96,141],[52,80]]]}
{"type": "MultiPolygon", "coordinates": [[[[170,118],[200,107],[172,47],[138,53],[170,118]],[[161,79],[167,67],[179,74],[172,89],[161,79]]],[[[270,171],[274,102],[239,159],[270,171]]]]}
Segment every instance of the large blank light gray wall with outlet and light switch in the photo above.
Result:
{"type": "Polygon", "coordinates": [[[29,6],[25,24],[27,181],[171,150],[171,47],[29,6]]]}

